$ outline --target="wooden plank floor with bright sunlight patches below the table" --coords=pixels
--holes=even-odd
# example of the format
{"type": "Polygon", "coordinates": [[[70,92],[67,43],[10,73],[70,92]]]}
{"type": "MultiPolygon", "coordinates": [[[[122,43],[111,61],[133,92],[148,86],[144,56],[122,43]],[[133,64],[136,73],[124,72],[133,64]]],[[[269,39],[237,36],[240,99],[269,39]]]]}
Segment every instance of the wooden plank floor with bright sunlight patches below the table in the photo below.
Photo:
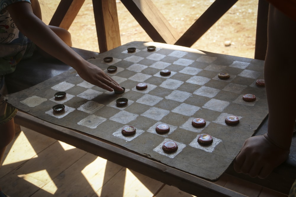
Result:
{"type": "MultiPolygon", "coordinates": [[[[192,196],[61,141],[21,130],[0,170],[0,186],[11,197],[192,196]]],[[[216,183],[251,197],[286,196],[230,175],[216,183]]]]}

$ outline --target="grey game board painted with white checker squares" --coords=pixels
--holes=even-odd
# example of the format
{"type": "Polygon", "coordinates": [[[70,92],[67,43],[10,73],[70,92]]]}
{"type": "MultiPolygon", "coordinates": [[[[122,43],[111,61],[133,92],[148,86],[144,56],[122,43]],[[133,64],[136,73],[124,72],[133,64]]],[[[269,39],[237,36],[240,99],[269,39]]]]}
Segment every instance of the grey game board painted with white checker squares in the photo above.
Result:
{"type": "Polygon", "coordinates": [[[45,121],[82,131],[124,146],[127,149],[157,160],[165,165],[199,177],[215,180],[226,170],[238,154],[243,142],[252,136],[268,113],[264,87],[257,87],[263,78],[263,61],[162,43],[131,42],[99,54],[89,60],[105,72],[110,65],[117,66],[109,73],[123,94],[108,92],[81,79],[73,69],[21,92],[8,95],[15,107],[45,121]],[[156,46],[147,51],[147,46],[156,46]],[[136,51],[128,53],[127,48],[136,51]],[[106,63],[105,57],[113,57],[106,63]],[[160,75],[169,69],[168,76],[160,75]],[[230,78],[218,78],[221,72],[230,78]],[[136,89],[140,82],[144,90],[136,89]],[[55,100],[59,91],[67,93],[55,100]],[[242,100],[244,94],[254,94],[255,102],[242,100]],[[118,107],[115,100],[128,99],[118,107]],[[52,107],[64,104],[65,111],[53,113],[52,107]],[[229,126],[228,115],[236,115],[240,122],[229,126]],[[194,118],[203,118],[206,126],[192,126],[194,118]],[[155,127],[165,123],[169,133],[158,134],[155,127]],[[134,126],[136,134],[123,136],[124,126],[134,126]],[[200,134],[213,137],[213,143],[201,146],[200,134]],[[165,141],[174,141],[178,150],[165,153],[165,141]]]}

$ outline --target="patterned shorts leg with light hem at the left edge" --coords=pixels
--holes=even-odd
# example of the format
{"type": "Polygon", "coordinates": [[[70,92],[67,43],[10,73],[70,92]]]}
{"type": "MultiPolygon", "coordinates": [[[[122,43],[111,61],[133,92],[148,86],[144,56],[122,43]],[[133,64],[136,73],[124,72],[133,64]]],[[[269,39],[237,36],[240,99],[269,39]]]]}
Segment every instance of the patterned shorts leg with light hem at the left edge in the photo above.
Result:
{"type": "Polygon", "coordinates": [[[4,101],[4,95],[7,89],[4,82],[4,76],[0,75],[0,125],[9,122],[17,114],[17,109],[8,105],[4,101]]]}

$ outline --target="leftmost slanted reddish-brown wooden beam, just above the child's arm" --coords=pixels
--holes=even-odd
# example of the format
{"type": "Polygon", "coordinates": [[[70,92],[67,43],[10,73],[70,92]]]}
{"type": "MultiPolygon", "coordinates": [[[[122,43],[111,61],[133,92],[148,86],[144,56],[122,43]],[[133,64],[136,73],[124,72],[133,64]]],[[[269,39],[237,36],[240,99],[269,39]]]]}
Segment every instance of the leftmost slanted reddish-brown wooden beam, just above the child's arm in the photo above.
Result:
{"type": "Polygon", "coordinates": [[[85,0],[61,0],[49,25],[68,30],[85,0]]]}

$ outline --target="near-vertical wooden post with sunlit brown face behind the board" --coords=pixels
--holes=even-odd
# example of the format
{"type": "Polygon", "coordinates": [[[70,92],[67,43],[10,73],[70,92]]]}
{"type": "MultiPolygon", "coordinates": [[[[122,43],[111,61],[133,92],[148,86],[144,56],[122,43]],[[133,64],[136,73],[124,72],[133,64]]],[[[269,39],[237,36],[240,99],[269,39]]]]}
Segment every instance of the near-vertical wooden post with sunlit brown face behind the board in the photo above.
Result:
{"type": "Polygon", "coordinates": [[[121,45],[115,0],[93,0],[100,53],[121,45]]]}

